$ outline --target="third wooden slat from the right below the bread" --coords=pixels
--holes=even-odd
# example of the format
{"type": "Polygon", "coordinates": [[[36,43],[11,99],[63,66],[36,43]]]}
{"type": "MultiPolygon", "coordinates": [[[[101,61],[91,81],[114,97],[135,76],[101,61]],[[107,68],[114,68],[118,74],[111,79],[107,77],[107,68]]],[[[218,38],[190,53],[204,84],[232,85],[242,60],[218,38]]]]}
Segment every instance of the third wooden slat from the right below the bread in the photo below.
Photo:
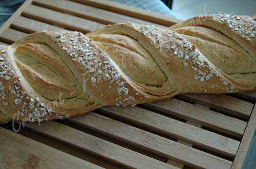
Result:
{"type": "Polygon", "coordinates": [[[106,114],[125,119],[131,123],[169,135],[193,145],[203,147],[218,154],[234,157],[239,142],[231,138],[167,118],[139,107],[106,106],[101,108],[106,114]]]}

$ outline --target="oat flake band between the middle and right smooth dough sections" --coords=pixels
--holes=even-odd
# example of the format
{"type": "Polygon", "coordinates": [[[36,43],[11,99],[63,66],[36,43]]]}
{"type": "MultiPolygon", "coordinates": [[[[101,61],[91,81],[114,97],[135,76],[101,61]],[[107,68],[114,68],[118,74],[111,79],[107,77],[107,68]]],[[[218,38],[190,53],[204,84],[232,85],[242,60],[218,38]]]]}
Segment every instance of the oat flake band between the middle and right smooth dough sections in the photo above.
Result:
{"type": "MultiPolygon", "coordinates": [[[[120,24],[128,24],[140,30],[142,35],[146,36],[149,41],[154,44],[156,42],[157,48],[163,48],[167,52],[173,53],[177,58],[182,60],[182,64],[186,68],[192,68],[195,72],[193,75],[195,80],[199,80],[201,82],[211,80],[215,75],[216,77],[220,76],[218,71],[212,69],[207,62],[204,61],[201,53],[196,49],[196,46],[191,44],[178,33],[168,30],[168,41],[162,38],[162,35],[158,32],[158,28],[154,25],[138,25],[136,23],[127,22],[120,24]],[[173,40],[178,43],[178,45],[174,45],[173,40]]],[[[225,90],[229,93],[236,92],[237,90],[234,86],[229,85],[227,81],[224,79],[220,79],[222,81],[225,90]]],[[[205,93],[208,92],[204,86],[201,87],[201,90],[205,93]]]]}

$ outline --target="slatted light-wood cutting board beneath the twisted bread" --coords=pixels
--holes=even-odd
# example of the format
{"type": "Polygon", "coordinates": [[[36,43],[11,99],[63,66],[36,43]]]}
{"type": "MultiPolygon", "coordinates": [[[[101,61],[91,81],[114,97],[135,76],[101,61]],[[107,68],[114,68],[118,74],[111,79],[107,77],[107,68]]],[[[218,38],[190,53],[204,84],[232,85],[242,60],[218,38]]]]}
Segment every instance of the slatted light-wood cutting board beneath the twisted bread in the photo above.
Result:
{"type": "MultiPolygon", "coordinates": [[[[28,0],[1,27],[0,44],[44,30],[82,33],[132,21],[179,19],[100,0],[28,0]]],[[[240,168],[256,122],[256,92],[183,94],[87,115],[0,126],[0,168],[240,168]]]]}

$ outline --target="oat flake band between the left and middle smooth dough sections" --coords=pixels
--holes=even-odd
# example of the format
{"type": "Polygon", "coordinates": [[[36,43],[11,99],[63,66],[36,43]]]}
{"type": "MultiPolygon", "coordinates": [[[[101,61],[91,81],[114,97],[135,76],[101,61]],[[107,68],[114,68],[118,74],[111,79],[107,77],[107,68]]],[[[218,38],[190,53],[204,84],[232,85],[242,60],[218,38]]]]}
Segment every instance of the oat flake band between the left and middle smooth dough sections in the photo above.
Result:
{"type": "MultiPolygon", "coordinates": [[[[109,81],[108,89],[112,89],[112,83],[116,82],[118,84],[116,91],[119,96],[127,96],[129,94],[129,89],[125,87],[126,81],[120,80],[120,74],[111,64],[109,55],[100,50],[99,55],[102,60],[96,59],[96,53],[92,50],[95,44],[92,40],[88,40],[82,33],[76,31],[55,33],[54,37],[56,38],[58,45],[73,58],[73,61],[79,64],[83,69],[87,70],[87,72],[93,74],[91,77],[91,83],[93,86],[97,86],[97,79],[99,75],[102,74],[103,80],[109,81]]],[[[103,97],[103,95],[101,95],[101,97],[103,97]]],[[[123,101],[129,100],[134,100],[134,98],[125,99],[123,101]]],[[[123,103],[118,101],[116,105],[123,105],[123,103]]]]}

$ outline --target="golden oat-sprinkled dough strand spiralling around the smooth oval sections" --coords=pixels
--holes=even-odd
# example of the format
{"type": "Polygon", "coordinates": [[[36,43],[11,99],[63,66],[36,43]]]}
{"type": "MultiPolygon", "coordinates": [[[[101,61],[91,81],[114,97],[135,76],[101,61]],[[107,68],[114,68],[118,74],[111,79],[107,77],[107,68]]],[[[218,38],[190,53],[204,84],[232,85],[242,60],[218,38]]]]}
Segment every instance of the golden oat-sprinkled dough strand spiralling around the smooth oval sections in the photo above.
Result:
{"type": "MultiPolygon", "coordinates": [[[[226,15],[223,17],[227,18],[226,15]]],[[[207,16],[200,25],[213,27],[223,32],[255,58],[255,38],[253,37],[255,36],[255,21],[247,16],[230,15],[231,18],[242,20],[242,23],[250,23],[248,29],[252,30],[252,33],[248,37],[247,33],[242,32],[242,37],[234,33],[236,30],[232,27],[227,27],[226,23],[223,23],[223,17],[207,16]]],[[[191,20],[174,25],[171,29],[189,25],[189,21],[191,20]]],[[[242,24],[242,26],[247,25],[242,24]]],[[[86,36],[78,32],[35,33],[9,47],[1,46],[0,48],[2,71],[0,84],[2,105],[0,108],[3,112],[0,114],[0,123],[11,120],[13,116],[19,116],[19,120],[39,122],[65,118],[84,114],[105,105],[145,103],[170,98],[180,93],[232,93],[255,89],[255,80],[243,81],[231,77],[212,64],[195,45],[180,34],[151,25],[120,23],[106,26],[86,36]],[[89,39],[101,34],[120,34],[136,40],[151,54],[166,75],[167,81],[164,85],[153,89],[133,81],[118,66],[119,63],[115,63],[110,58],[111,55],[103,51],[97,42],[89,39]],[[78,80],[84,94],[81,98],[86,101],[77,98],[69,102],[68,99],[60,98],[54,102],[36,92],[40,90],[38,89],[40,86],[34,89],[31,85],[33,81],[29,81],[27,76],[26,80],[24,71],[16,65],[14,55],[17,47],[28,43],[51,47],[78,80]],[[72,103],[74,105],[70,106],[72,103]]],[[[26,52],[29,51],[24,50],[24,53],[26,52]]],[[[47,64],[47,61],[44,61],[44,64],[47,64]]],[[[58,66],[57,63],[56,66],[58,66]]],[[[53,88],[53,92],[57,89],[54,83],[50,87],[53,88]]],[[[41,88],[50,87],[41,85],[41,88]]]]}

